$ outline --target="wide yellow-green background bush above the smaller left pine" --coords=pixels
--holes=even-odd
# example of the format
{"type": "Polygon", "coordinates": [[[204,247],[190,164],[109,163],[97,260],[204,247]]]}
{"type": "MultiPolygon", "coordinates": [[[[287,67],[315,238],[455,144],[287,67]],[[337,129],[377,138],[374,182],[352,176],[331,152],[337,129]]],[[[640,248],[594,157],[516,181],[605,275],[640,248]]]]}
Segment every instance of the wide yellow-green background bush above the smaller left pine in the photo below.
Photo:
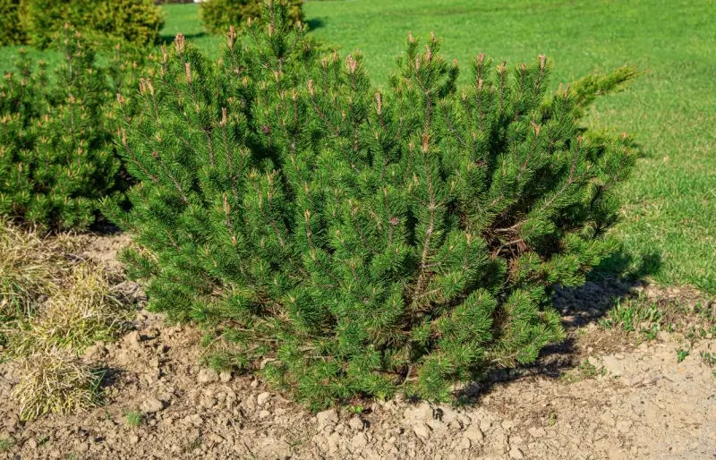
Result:
{"type": "Polygon", "coordinates": [[[146,47],[158,41],[164,19],[152,0],[21,0],[30,45],[48,47],[65,23],[100,43],[121,40],[146,47]]]}

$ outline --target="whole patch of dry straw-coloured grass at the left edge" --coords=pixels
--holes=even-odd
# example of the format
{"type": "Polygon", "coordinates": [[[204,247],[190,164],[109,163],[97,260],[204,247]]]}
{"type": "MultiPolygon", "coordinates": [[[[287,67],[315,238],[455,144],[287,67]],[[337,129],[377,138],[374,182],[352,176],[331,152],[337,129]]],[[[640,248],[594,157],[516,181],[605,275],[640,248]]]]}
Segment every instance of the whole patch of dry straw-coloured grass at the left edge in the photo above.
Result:
{"type": "Polygon", "coordinates": [[[132,311],[106,268],[74,255],[80,246],[0,219],[0,360],[20,368],[22,420],[97,405],[102,375],[78,355],[132,311]]]}

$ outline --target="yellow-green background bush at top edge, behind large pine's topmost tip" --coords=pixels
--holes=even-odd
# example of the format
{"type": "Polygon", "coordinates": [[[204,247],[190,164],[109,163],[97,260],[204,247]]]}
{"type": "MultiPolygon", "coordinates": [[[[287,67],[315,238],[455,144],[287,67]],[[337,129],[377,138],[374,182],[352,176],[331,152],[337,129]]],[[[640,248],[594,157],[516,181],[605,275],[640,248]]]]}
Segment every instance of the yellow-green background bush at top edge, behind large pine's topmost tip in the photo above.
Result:
{"type": "MultiPolygon", "coordinates": [[[[249,18],[258,18],[264,0],[207,0],[200,4],[201,21],[210,33],[223,34],[249,18]]],[[[290,0],[289,20],[303,21],[303,0],[290,0]]]]}

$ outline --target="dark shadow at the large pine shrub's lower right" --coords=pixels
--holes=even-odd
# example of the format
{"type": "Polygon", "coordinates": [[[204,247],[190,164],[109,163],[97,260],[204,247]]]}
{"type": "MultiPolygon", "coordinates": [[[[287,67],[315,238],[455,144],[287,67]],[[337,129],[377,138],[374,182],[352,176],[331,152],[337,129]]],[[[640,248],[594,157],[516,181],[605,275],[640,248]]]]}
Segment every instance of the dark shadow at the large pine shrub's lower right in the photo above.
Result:
{"type": "Polygon", "coordinates": [[[456,396],[465,405],[478,405],[482,396],[488,395],[501,383],[536,376],[559,379],[565,371],[577,367],[580,358],[583,358],[577,347],[577,330],[598,322],[620,299],[636,297],[647,284],[645,278],[660,268],[661,254],[658,252],[634,260],[626,252],[619,251],[595,268],[584,285],[575,288],[557,286],[552,300],[562,315],[567,338],[559,344],[543,348],[533,364],[492,371],[485,379],[460,390],[456,396]]]}

